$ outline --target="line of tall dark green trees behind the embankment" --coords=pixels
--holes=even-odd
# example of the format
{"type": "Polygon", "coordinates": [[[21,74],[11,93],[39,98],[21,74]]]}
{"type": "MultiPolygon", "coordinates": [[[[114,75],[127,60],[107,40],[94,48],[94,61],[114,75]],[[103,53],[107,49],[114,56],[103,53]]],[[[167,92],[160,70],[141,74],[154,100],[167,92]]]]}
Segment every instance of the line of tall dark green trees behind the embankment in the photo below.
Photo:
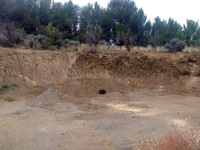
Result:
{"type": "MultiPolygon", "coordinates": [[[[178,38],[187,46],[200,46],[198,22],[147,20],[142,8],[132,0],[111,0],[107,8],[96,2],[79,7],[71,0],[64,4],[53,0],[0,0],[0,22],[15,24],[26,34],[43,34],[51,43],[65,39],[97,45],[109,44],[153,47],[163,46],[178,38]]],[[[5,28],[4,28],[5,29],[5,28]]],[[[1,32],[1,30],[0,30],[1,32]]]]}

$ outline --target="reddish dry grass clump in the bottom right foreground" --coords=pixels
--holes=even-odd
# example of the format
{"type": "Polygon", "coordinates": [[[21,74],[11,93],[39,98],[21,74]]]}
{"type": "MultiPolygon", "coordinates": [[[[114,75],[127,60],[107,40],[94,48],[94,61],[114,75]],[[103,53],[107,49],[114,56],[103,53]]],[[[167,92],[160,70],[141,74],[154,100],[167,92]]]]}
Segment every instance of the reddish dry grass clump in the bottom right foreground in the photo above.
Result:
{"type": "Polygon", "coordinates": [[[200,150],[200,135],[197,131],[189,130],[185,133],[175,126],[165,136],[153,140],[151,143],[138,145],[138,150],[200,150]]]}

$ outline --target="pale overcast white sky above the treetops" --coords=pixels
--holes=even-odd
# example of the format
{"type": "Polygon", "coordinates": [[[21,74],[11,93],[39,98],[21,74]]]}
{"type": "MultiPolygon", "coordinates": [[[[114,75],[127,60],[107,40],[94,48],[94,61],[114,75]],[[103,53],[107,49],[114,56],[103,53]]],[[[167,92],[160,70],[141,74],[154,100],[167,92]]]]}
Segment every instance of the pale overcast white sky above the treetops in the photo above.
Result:
{"type": "MultiPolygon", "coordinates": [[[[68,0],[55,0],[56,2],[68,2],[68,0]]],[[[107,7],[110,0],[72,0],[79,6],[97,1],[102,7],[107,7]]],[[[138,8],[143,8],[148,19],[152,22],[159,16],[168,20],[170,17],[181,25],[186,19],[192,19],[200,23],[200,0],[134,0],[138,8]]]]}

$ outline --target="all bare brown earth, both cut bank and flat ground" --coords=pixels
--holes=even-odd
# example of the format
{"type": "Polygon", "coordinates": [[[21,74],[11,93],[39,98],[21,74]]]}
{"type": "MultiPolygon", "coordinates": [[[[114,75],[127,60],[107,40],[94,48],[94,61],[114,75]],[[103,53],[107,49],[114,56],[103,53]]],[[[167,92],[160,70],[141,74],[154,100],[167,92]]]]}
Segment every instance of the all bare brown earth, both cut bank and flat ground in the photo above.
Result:
{"type": "Polygon", "coordinates": [[[200,126],[200,55],[0,48],[0,68],[18,84],[0,96],[2,150],[129,150],[200,126]]]}

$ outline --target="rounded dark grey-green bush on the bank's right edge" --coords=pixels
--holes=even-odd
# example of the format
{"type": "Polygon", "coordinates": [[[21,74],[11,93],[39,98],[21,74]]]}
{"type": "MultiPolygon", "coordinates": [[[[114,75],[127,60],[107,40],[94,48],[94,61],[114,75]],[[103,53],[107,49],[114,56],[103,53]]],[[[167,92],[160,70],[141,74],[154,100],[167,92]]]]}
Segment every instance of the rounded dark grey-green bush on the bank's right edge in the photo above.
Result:
{"type": "Polygon", "coordinates": [[[165,49],[168,49],[169,52],[176,53],[176,52],[182,52],[185,49],[186,44],[185,42],[177,38],[174,38],[170,41],[170,44],[167,43],[164,47],[165,49]]]}

